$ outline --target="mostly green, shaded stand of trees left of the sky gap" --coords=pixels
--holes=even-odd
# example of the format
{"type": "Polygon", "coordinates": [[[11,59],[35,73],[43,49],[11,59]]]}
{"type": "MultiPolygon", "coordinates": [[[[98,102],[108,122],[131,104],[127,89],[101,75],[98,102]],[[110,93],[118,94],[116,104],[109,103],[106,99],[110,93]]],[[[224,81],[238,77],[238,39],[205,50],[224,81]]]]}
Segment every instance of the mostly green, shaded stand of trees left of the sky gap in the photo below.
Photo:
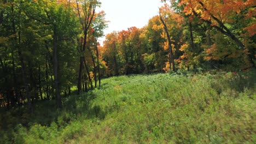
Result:
{"type": "MultiPolygon", "coordinates": [[[[0,104],[28,104],[97,87],[107,27],[96,0],[0,1],[0,104]],[[95,81],[95,83],[93,83],[95,81]],[[89,87],[90,86],[90,87],[89,87]]],[[[102,66],[103,65],[103,66],[102,66]]]]}

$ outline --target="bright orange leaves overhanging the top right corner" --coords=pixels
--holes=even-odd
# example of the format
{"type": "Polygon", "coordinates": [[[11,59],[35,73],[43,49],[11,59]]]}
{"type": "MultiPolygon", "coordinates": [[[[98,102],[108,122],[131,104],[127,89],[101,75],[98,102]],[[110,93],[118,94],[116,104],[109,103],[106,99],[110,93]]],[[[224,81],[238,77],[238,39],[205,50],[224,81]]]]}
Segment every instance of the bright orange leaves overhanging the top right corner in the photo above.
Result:
{"type": "MultiPolygon", "coordinates": [[[[219,24],[216,19],[223,23],[234,23],[232,17],[237,14],[243,15],[246,19],[253,19],[256,15],[256,10],[254,8],[256,5],[255,0],[181,0],[179,5],[183,5],[183,13],[189,15],[190,19],[191,16],[196,15],[202,20],[211,21],[211,26],[217,26],[219,24]],[[243,13],[241,13],[241,11],[243,11],[243,13]]],[[[244,30],[248,31],[250,36],[254,35],[255,19],[254,22],[248,23],[244,30]]]]}

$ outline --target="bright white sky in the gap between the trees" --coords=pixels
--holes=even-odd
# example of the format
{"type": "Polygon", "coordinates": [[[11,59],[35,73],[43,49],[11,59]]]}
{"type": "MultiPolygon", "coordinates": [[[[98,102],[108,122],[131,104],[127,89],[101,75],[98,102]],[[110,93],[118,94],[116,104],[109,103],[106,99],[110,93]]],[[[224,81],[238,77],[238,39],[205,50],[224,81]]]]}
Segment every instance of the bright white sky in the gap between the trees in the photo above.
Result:
{"type": "MultiPolygon", "coordinates": [[[[158,15],[158,8],[162,5],[160,0],[101,0],[101,8],[106,13],[108,28],[104,34],[113,31],[127,30],[129,27],[142,28],[148,20],[158,15]]],[[[100,39],[103,43],[104,38],[100,39]]]]}

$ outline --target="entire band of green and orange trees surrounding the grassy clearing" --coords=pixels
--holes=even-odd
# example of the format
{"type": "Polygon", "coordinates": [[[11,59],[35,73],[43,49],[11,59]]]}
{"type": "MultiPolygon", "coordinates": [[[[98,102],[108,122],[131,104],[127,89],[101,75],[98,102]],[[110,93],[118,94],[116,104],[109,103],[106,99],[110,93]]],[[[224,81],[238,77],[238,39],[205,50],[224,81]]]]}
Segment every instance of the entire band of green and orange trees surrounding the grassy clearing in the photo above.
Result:
{"type": "Polygon", "coordinates": [[[0,105],[100,87],[101,77],[255,67],[255,1],[170,1],[143,28],[98,38],[97,0],[0,1],[0,105]],[[76,86],[76,87],[74,87],[76,86]]]}

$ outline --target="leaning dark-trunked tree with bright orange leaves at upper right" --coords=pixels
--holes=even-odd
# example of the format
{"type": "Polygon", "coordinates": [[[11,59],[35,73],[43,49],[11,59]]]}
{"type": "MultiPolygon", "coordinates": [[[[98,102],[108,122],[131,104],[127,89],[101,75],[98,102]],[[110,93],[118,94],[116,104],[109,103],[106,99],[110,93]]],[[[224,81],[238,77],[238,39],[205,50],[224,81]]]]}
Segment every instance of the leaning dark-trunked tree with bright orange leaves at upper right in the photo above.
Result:
{"type": "Polygon", "coordinates": [[[253,7],[254,2],[249,0],[243,1],[197,1],[197,0],[182,0],[179,3],[183,5],[183,13],[186,15],[195,15],[200,17],[202,21],[207,22],[217,31],[225,34],[235,41],[240,46],[240,49],[245,49],[244,44],[237,36],[230,31],[225,23],[232,23],[231,17],[241,13],[241,11],[253,7]],[[221,15],[219,14],[221,13],[221,15]]]}

